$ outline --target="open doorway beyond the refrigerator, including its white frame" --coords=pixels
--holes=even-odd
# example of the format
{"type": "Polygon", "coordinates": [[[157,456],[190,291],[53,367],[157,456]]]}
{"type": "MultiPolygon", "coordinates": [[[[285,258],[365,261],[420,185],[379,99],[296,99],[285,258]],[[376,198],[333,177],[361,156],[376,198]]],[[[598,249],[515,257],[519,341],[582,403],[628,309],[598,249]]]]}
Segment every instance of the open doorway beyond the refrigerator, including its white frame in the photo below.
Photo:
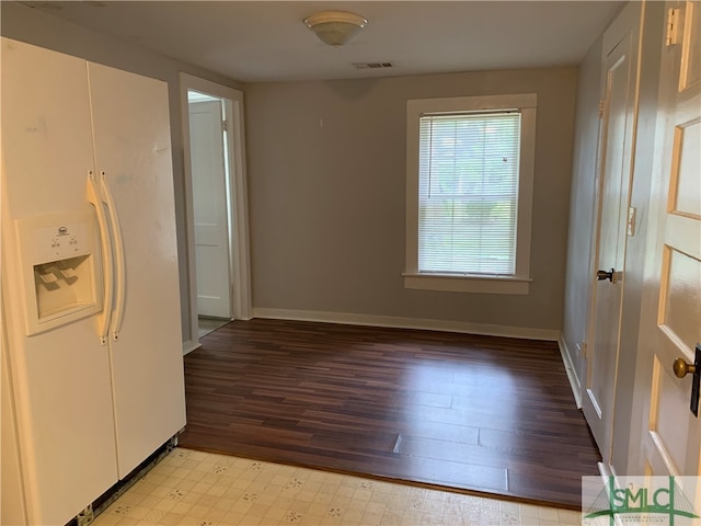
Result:
{"type": "Polygon", "coordinates": [[[249,319],[243,94],[181,73],[191,344],[249,319]]]}

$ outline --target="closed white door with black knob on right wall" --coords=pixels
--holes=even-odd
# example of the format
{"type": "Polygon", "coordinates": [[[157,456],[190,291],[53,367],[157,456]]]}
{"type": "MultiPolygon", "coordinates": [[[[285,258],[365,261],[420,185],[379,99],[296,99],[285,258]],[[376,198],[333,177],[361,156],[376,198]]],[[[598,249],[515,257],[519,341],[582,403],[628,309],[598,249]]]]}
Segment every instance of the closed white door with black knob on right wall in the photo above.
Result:
{"type": "Polygon", "coordinates": [[[606,84],[596,262],[601,272],[610,275],[602,274],[595,285],[583,410],[605,462],[609,462],[611,456],[623,299],[622,270],[635,121],[635,33],[627,32],[604,60],[606,84]]]}

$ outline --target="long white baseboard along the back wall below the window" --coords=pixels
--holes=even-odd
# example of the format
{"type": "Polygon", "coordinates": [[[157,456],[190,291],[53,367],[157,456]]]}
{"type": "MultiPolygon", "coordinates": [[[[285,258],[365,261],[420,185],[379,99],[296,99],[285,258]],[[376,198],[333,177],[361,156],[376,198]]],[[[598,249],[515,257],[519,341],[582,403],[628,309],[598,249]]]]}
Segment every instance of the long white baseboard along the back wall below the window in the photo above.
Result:
{"type": "Polygon", "coordinates": [[[492,325],[464,321],[429,320],[395,316],[355,315],[349,312],[323,312],[315,310],[254,308],[254,318],[277,320],[317,321],[344,323],[348,325],[390,327],[395,329],[424,329],[429,331],[461,332],[486,336],[522,338],[526,340],[548,340],[556,342],[560,331],[553,329],[530,329],[527,327],[492,325]]]}

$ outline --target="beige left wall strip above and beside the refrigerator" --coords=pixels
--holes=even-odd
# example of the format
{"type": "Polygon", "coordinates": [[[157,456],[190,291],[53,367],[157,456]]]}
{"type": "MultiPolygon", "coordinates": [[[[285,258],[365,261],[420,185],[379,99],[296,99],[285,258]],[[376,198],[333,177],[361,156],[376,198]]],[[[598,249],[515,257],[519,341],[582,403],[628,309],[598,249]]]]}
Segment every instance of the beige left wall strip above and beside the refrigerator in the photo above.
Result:
{"type": "MultiPolygon", "coordinates": [[[[172,60],[135,46],[125,41],[88,30],[57,16],[46,14],[19,3],[1,2],[2,36],[55,49],[87,60],[114,68],[133,71],[168,82],[171,114],[171,140],[173,147],[173,176],[175,188],[175,214],[177,225],[177,252],[180,258],[180,283],[183,297],[183,341],[189,339],[191,315],[188,311],[189,288],[187,274],[187,237],[185,224],[185,179],[183,172],[183,139],[181,135],[179,72],[202,77],[221,84],[240,89],[235,82],[202,68],[172,60]]],[[[194,328],[197,335],[197,328],[194,328]]]]}

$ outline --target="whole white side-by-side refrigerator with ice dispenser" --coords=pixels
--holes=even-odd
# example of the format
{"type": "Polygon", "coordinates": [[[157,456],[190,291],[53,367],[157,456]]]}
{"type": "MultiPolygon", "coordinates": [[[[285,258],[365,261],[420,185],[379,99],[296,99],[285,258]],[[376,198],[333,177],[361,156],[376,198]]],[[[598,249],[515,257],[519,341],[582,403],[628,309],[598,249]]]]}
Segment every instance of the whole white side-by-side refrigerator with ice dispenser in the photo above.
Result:
{"type": "Polygon", "coordinates": [[[185,425],[168,85],[1,68],[1,523],[59,525],[185,425]]]}

